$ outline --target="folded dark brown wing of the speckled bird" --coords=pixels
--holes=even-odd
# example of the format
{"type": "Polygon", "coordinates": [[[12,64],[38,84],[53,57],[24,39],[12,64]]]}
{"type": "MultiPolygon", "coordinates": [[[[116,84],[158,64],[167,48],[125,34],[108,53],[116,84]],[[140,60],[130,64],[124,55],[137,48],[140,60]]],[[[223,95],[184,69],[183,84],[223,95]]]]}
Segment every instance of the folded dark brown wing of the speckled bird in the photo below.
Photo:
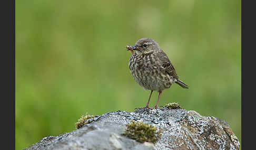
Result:
{"type": "Polygon", "coordinates": [[[169,75],[173,76],[175,79],[178,79],[178,75],[176,73],[175,68],[173,67],[171,61],[169,60],[168,56],[164,51],[160,51],[158,53],[159,59],[161,61],[161,65],[164,68],[165,73],[168,73],[169,75]]]}

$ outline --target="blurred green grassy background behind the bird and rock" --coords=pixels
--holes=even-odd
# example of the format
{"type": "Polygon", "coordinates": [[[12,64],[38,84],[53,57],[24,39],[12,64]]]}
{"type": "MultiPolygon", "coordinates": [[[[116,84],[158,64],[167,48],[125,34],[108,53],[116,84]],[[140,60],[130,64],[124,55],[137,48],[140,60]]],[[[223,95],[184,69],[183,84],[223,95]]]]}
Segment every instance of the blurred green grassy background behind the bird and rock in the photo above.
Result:
{"type": "MultiPolygon", "coordinates": [[[[225,120],[241,143],[241,1],[16,1],[16,149],[75,130],[81,115],[146,105],[133,45],[153,38],[182,81],[160,105],[225,120]]],[[[157,93],[153,92],[150,106],[157,93]]]]}

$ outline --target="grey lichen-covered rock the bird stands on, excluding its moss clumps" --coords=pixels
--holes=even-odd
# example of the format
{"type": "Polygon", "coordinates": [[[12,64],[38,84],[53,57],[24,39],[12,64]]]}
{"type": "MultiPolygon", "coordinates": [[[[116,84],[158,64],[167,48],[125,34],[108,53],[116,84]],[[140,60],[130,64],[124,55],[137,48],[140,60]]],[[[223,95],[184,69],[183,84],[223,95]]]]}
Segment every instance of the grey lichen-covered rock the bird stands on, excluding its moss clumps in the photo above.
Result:
{"type": "Polygon", "coordinates": [[[116,111],[94,117],[83,127],[49,136],[25,149],[239,149],[229,125],[213,116],[168,108],[134,112],[116,111]],[[155,144],[139,143],[122,135],[131,120],[152,124],[162,130],[155,144]]]}

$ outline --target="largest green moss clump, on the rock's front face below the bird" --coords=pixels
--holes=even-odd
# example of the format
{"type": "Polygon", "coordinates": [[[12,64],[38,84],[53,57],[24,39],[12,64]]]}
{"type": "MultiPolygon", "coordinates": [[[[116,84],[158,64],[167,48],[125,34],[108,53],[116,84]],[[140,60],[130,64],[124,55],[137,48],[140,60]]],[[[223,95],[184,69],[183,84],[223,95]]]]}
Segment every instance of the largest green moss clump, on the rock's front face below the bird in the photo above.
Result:
{"type": "Polygon", "coordinates": [[[161,130],[156,132],[157,127],[154,127],[153,125],[146,125],[143,122],[132,121],[132,123],[127,124],[126,127],[127,128],[123,135],[140,143],[155,143],[161,137],[161,130]]]}

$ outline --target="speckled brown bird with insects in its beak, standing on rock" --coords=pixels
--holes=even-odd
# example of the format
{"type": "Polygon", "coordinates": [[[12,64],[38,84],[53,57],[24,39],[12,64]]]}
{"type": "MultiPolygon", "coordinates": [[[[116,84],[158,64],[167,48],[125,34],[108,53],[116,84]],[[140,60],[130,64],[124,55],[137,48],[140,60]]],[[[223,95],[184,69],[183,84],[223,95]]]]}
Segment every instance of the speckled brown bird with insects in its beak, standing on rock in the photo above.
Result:
{"type": "Polygon", "coordinates": [[[157,109],[161,93],[173,83],[182,88],[189,86],[181,81],[166,53],[151,38],[141,38],[134,46],[126,46],[132,52],[129,68],[134,80],[146,90],[151,90],[149,100],[143,109],[157,109]],[[134,52],[135,51],[135,52],[134,52]],[[159,92],[154,108],[149,107],[152,92],[159,92]]]}

